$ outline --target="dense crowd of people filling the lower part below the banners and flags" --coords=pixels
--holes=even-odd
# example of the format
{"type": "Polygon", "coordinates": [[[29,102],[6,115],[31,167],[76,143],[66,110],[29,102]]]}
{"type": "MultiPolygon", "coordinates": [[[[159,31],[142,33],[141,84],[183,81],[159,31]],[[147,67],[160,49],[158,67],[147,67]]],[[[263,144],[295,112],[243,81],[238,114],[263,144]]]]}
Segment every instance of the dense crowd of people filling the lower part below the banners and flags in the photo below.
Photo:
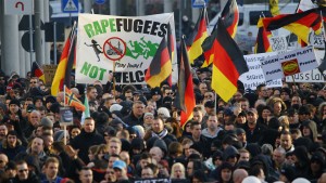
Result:
{"type": "MultiPolygon", "coordinates": [[[[196,68],[196,67],[193,67],[196,68]]],[[[90,117],[37,77],[0,73],[0,182],[326,182],[326,89],[258,86],[229,102],[193,69],[196,107],[180,125],[177,87],[73,84],[90,117]],[[82,120],[83,119],[83,120],[82,120]]],[[[72,76],[73,77],[73,76],[72,76]]],[[[187,99],[188,100],[188,99],[187,99]]]]}

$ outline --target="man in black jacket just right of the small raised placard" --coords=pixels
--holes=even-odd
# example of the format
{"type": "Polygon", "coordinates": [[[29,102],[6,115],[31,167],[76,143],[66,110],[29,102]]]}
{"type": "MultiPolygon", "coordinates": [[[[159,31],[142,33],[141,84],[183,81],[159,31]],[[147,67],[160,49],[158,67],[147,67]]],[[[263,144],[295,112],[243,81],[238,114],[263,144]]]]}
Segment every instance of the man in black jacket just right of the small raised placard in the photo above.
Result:
{"type": "Polygon", "coordinates": [[[71,141],[73,148],[79,149],[78,157],[85,164],[89,162],[88,148],[104,143],[104,138],[95,130],[95,120],[91,117],[85,119],[80,134],[71,141]]]}

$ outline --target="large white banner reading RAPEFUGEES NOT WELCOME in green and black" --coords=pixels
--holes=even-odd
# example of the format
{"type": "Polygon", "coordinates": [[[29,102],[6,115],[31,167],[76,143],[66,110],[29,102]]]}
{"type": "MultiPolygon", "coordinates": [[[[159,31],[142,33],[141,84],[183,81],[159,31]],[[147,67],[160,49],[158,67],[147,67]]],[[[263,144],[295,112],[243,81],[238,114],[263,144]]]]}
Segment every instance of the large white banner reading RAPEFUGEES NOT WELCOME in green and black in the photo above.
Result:
{"type": "MultiPolygon", "coordinates": [[[[173,13],[148,16],[78,15],[76,82],[106,83],[113,70],[117,84],[143,84],[145,74],[171,24],[173,13]],[[110,60],[109,60],[110,58],[110,60]]],[[[177,80],[176,47],[173,82],[177,80]]]]}

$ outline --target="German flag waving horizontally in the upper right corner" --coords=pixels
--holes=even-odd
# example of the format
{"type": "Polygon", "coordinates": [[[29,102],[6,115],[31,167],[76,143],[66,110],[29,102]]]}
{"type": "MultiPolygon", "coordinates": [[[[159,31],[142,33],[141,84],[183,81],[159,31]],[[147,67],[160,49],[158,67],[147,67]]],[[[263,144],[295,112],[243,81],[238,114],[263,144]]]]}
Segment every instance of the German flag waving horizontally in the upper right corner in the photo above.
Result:
{"type": "Polygon", "coordinates": [[[283,27],[297,35],[298,38],[302,39],[305,43],[309,43],[310,28],[316,34],[321,32],[321,11],[322,9],[312,9],[302,13],[265,17],[263,18],[263,25],[268,31],[283,27]]]}

